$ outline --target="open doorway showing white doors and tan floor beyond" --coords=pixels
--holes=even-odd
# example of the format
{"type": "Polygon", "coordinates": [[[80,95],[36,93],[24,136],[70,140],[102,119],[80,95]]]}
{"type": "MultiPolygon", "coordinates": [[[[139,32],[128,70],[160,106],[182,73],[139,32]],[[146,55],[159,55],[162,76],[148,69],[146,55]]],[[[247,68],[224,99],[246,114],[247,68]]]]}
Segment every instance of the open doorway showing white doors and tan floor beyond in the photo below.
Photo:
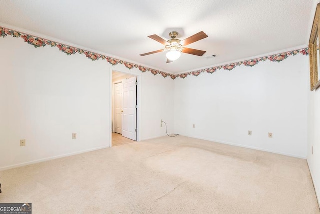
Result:
{"type": "Polygon", "coordinates": [[[112,145],[137,140],[137,77],[112,71],[112,145]]]}

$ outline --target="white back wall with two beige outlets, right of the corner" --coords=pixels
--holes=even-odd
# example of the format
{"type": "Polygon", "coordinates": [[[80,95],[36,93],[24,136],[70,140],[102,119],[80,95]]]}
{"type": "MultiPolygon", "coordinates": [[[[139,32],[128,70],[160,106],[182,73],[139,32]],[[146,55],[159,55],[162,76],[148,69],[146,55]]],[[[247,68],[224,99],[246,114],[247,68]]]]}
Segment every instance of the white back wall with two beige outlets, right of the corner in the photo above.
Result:
{"type": "Polygon", "coordinates": [[[177,78],[174,131],[305,158],[308,60],[296,55],[281,63],[177,78]]]}

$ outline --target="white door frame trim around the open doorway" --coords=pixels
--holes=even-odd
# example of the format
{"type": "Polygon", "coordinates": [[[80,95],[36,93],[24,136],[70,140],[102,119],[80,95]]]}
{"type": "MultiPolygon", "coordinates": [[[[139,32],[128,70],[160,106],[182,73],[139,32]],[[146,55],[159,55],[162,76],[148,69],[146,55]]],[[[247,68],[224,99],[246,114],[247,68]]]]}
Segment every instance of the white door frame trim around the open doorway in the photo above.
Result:
{"type": "Polygon", "coordinates": [[[136,81],[137,81],[137,87],[136,87],[136,103],[137,103],[137,109],[136,109],[136,128],[138,129],[137,133],[136,133],[136,141],[140,141],[141,139],[141,85],[142,85],[142,81],[141,81],[141,74],[133,74],[131,72],[126,72],[126,71],[121,71],[121,70],[114,70],[112,68],[110,68],[110,93],[109,93],[109,100],[110,100],[110,121],[109,121],[109,134],[110,134],[110,138],[109,138],[109,147],[112,147],[112,117],[113,117],[113,111],[112,111],[112,105],[113,105],[113,101],[112,101],[112,96],[113,96],[113,83],[112,83],[112,71],[114,72],[121,72],[121,73],[125,73],[125,74],[129,74],[132,76],[136,76],[136,81]]]}

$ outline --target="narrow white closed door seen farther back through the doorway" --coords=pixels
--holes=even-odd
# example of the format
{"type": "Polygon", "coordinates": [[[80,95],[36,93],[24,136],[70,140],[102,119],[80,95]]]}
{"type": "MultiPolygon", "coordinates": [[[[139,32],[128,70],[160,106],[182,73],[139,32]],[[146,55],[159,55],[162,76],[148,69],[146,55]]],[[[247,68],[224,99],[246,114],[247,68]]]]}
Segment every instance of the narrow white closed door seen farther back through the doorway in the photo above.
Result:
{"type": "Polygon", "coordinates": [[[122,82],[114,84],[114,132],[122,134],[122,82]]]}

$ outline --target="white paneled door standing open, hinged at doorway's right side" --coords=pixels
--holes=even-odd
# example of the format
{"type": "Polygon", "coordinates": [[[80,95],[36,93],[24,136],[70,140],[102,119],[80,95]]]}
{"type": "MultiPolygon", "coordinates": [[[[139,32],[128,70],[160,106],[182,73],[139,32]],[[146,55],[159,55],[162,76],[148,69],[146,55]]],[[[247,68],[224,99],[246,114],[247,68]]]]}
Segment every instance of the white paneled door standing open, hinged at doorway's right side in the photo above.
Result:
{"type": "Polygon", "coordinates": [[[122,136],[136,140],[136,77],[123,80],[122,136]]]}

